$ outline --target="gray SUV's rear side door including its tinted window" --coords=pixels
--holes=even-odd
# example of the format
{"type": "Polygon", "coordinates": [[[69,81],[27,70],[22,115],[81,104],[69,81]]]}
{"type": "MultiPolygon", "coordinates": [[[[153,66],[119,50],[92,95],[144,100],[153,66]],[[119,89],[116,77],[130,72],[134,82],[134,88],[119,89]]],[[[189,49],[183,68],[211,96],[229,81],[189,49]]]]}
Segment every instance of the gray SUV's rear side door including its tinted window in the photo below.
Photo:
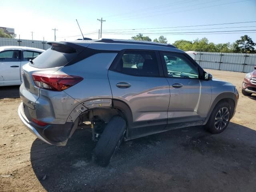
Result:
{"type": "Polygon", "coordinates": [[[113,99],[132,111],[128,138],[160,132],[167,124],[170,90],[160,62],[155,51],[123,50],[110,67],[113,99]]]}

